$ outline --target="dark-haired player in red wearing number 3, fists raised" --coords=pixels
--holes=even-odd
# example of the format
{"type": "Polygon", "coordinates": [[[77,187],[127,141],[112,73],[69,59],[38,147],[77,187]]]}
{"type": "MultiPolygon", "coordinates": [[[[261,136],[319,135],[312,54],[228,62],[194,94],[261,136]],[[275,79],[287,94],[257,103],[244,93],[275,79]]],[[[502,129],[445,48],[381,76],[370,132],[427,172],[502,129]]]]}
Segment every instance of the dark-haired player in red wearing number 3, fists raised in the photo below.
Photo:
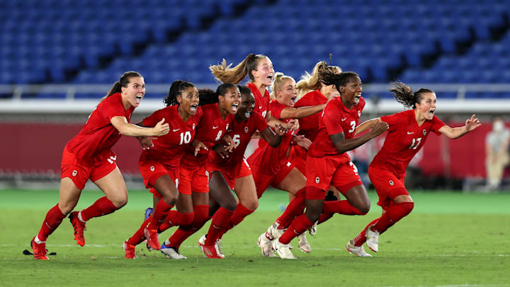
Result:
{"type": "Polygon", "coordinates": [[[334,74],[331,71],[324,71],[321,78],[326,85],[334,84],[340,97],[327,103],[319,119],[319,134],[308,150],[306,212],[295,218],[285,233],[272,242],[273,251],[283,259],[295,259],[288,244],[319,219],[330,185],[336,187],[359,214],[368,212],[370,199],[346,151],[365,144],[387,129],[385,122],[378,122],[367,134],[353,138],[365,106],[361,98],[361,79],[354,72],[334,74]]]}

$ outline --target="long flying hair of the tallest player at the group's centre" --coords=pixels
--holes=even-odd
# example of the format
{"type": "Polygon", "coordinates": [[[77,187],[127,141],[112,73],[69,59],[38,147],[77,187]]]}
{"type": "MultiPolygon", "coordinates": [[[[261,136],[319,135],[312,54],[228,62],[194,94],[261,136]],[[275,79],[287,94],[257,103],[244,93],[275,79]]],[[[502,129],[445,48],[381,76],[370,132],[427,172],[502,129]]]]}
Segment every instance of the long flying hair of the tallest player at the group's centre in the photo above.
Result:
{"type": "Polygon", "coordinates": [[[211,65],[209,69],[220,83],[237,84],[246,78],[246,75],[249,76],[251,81],[254,81],[254,76],[251,74],[251,71],[256,70],[259,67],[259,60],[264,58],[267,58],[267,56],[252,53],[233,68],[231,68],[232,64],[227,66],[227,61],[223,59],[222,64],[211,65]]]}

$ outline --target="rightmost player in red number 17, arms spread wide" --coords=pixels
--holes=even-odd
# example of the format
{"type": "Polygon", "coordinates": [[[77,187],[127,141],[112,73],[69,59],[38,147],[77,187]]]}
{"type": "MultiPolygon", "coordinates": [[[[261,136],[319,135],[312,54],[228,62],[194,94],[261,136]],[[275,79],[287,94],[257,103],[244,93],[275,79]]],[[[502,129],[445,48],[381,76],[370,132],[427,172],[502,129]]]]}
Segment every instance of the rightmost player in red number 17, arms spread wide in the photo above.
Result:
{"type": "Polygon", "coordinates": [[[412,107],[412,110],[370,119],[356,129],[357,134],[365,131],[374,122],[381,121],[390,126],[385,143],[368,167],[368,177],[378,193],[382,216],[368,223],[365,229],[346,245],[348,252],[361,257],[371,256],[363,250],[365,241],[373,252],[378,252],[379,235],[412,211],[414,202],[404,187],[405,171],[431,131],[457,139],[481,125],[475,115],[466,120],[464,127],[451,128],[441,122],[441,119],[434,115],[436,93],[433,90],[420,88],[413,93],[409,86],[395,82],[390,92],[397,102],[404,107],[412,107]]]}

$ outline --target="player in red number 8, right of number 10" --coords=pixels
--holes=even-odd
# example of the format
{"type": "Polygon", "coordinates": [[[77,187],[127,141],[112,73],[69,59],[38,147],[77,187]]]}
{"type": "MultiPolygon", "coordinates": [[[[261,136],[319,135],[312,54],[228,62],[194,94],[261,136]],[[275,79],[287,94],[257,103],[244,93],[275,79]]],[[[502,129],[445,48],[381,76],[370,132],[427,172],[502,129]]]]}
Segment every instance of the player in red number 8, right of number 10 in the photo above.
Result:
{"type": "MultiPolygon", "coordinates": [[[[179,246],[208,220],[210,174],[205,163],[210,149],[220,142],[227,143],[228,152],[232,151],[235,146],[232,138],[225,135],[225,131],[232,124],[239,106],[239,89],[237,86],[231,83],[223,83],[217,87],[216,92],[213,90],[199,90],[199,94],[203,115],[197,126],[195,141],[202,142],[207,149],[203,148],[195,153],[195,148],[189,146],[188,151],[184,152],[181,158],[177,209],[182,213],[194,211],[195,216],[191,224],[181,225],[161,247],[162,253],[174,259],[186,258],[179,254],[179,246]],[[169,252],[166,252],[166,250],[169,250],[169,252]],[[176,254],[173,254],[172,250],[176,254]]],[[[235,209],[235,205],[226,207],[229,207],[231,210],[227,210],[232,212],[235,209]]],[[[171,226],[168,225],[166,228],[171,226]]],[[[155,238],[157,239],[157,236],[155,238]]]]}

